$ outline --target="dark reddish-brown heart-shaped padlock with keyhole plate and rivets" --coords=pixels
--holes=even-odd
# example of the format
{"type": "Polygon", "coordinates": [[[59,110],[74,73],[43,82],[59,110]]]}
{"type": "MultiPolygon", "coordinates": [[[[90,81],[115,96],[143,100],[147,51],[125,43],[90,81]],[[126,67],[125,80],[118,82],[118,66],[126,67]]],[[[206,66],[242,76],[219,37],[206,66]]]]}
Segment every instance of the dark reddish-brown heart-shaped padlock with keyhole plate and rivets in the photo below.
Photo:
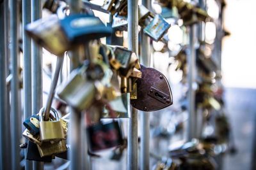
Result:
{"type": "Polygon", "coordinates": [[[137,99],[132,99],[134,108],[141,111],[156,111],[173,103],[172,91],[166,77],[150,67],[141,65],[142,77],[137,83],[137,99]]]}

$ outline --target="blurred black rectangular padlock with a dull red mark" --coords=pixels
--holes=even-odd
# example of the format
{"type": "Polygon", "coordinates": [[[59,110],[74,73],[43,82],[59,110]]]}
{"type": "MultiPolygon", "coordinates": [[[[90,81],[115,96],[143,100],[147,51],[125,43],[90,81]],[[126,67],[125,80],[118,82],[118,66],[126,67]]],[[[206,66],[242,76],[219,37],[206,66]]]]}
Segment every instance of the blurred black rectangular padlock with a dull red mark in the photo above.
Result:
{"type": "Polygon", "coordinates": [[[122,132],[116,121],[91,125],[86,131],[92,152],[120,146],[123,143],[122,132]]]}

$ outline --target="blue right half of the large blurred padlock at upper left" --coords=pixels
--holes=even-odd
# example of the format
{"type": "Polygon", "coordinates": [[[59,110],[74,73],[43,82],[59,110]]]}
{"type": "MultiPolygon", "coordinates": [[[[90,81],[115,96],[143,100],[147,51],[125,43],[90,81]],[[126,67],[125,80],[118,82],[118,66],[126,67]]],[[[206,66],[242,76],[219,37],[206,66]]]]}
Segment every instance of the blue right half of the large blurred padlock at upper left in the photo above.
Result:
{"type": "Polygon", "coordinates": [[[60,20],[61,29],[70,43],[84,43],[90,39],[111,36],[112,28],[106,27],[98,17],[74,14],[60,20]]]}

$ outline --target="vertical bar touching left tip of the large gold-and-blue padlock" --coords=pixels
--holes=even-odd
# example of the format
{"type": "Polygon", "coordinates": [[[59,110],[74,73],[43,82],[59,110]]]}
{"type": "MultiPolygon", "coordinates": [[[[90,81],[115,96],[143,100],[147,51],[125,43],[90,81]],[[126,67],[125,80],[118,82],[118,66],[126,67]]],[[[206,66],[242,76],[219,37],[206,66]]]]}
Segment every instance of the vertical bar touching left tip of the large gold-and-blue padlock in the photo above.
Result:
{"type": "MultiPolygon", "coordinates": [[[[31,22],[31,1],[22,0],[22,46],[23,46],[23,90],[24,90],[24,119],[28,118],[32,113],[32,85],[31,85],[31,38],[26,35],[25,26],[31,22]]],[[[25,150],[25,156],[28,150],[25,150]]],[[[25,169],[30,170],[33,164],[30,160],[26,160],[25,169]]]]}

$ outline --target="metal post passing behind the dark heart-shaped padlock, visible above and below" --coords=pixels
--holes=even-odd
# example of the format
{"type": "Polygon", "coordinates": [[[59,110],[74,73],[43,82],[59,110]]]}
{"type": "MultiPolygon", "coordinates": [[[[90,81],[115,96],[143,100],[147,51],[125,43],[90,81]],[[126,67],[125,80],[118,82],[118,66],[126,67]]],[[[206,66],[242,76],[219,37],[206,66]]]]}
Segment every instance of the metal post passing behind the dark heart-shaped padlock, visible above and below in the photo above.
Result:
{"type": "MultiPolygon", "coordinates": [[[[150,1],[143,0],[142,4],[146,8],[150,8],[150,1]]],[[[140,63],[143,66],[150,67],[150,38],[141,31],[141,51],[140,51],[140,63]]],[[[141,112],[141,150],[140,150],[140,169],[148,170],[149,166],[149,117],[150,113],[141,112]]]]}

